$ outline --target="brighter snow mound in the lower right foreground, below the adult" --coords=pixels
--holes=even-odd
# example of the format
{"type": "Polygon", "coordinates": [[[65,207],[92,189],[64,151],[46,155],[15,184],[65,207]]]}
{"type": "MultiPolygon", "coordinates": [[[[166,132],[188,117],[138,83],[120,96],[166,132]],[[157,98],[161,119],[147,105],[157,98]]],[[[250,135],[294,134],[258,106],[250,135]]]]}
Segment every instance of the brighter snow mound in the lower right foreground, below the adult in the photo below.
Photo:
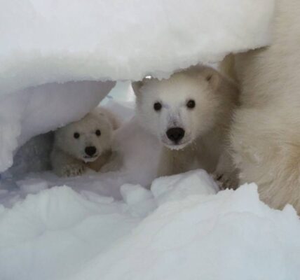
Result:
{"type": "Polygon", "coordinates": [[[253,185],[177,197],[69,279],[296,280],[299,230],[291,207],[268,209],[253,185]]]}

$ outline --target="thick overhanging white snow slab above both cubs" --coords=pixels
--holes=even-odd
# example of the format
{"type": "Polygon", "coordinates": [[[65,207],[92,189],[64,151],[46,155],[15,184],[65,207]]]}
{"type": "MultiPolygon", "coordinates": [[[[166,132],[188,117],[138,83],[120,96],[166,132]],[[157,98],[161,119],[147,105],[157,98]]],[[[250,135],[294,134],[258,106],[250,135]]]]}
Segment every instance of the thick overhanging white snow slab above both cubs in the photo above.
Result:
{"type": "Polygon", "coordinates": [[[161,76],[270,43],[273,0],[13,0],[0,10],[0,94],[161,76]]]}

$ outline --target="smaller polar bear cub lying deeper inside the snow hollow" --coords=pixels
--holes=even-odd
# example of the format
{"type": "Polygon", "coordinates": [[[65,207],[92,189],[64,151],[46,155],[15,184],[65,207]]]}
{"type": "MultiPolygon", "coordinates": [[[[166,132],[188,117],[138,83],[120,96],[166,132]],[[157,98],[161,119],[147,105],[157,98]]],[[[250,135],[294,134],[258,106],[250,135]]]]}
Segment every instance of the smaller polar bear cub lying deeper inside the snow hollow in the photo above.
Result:
{"type": "Polygon", "coordinates": [[[111,158],[113,131],[118,120],[102,107],[55,131],[50,155],[57,176],[78,176],[86,168],[99,171],[111,158]]]}

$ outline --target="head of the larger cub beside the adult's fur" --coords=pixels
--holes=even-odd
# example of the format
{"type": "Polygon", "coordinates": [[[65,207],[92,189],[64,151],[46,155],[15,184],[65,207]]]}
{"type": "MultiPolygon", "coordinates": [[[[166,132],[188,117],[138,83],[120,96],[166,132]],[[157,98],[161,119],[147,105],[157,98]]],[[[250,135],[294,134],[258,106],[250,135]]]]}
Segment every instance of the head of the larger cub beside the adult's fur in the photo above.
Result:
{"type": "Polygon", "coordinates": [[[168,148],[184,148],[213,127],[221,106],[220,78],[214,69],[201,66],[165,80],[132,83],[137,118],[168,148]]]}

